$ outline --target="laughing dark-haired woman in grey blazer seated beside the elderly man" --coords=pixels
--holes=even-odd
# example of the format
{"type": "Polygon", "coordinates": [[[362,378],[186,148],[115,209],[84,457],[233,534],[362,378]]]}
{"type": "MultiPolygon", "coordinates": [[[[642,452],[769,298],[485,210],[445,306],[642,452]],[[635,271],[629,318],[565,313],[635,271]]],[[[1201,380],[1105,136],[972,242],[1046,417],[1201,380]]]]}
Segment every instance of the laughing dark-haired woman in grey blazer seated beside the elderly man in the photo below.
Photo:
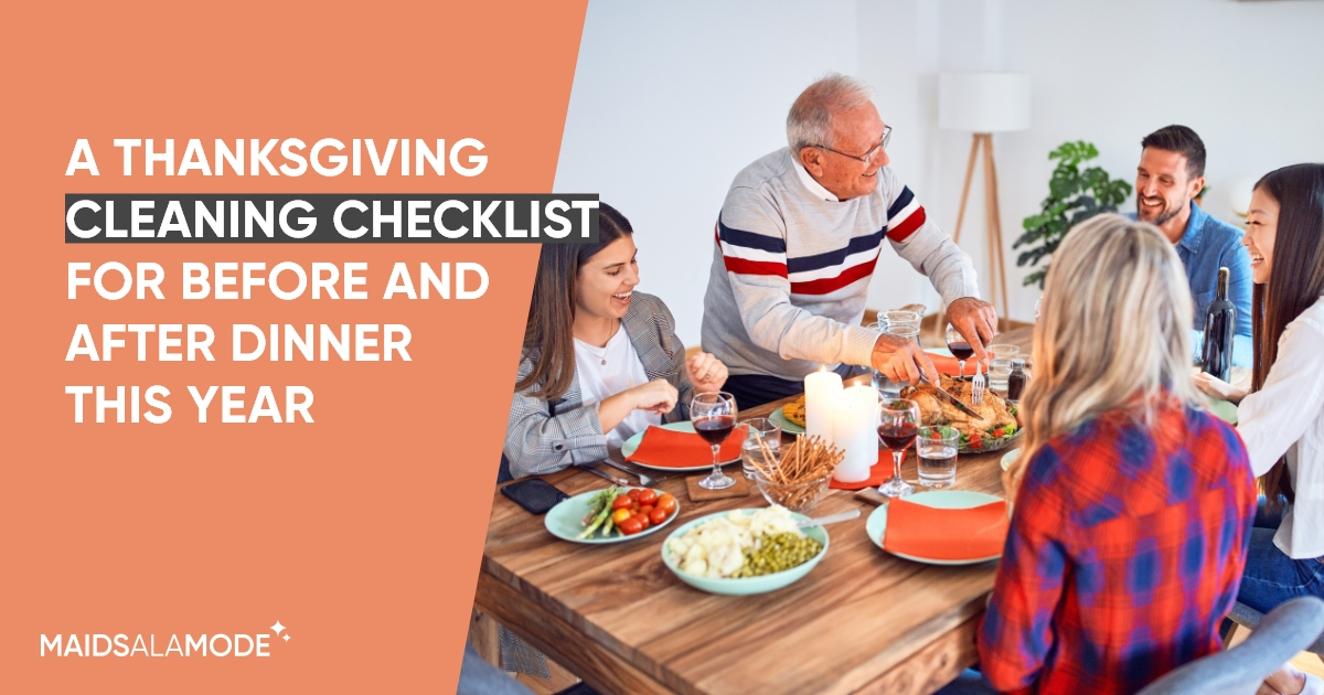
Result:
{"type": "Polygon", "coordinates": [[[712,355],[685,357],[666,304],[634,291],[633,234],[601,204],[597,244],[543,245],[502,451],[515,478],[606,458],[726,384],[712,355]]]}

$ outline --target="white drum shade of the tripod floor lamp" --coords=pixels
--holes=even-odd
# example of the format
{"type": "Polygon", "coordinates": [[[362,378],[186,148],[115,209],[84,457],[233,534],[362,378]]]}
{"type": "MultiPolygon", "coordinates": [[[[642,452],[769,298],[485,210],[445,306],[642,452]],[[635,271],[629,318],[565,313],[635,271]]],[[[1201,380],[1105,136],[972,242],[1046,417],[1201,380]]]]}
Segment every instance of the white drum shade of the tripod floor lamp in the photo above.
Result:
{"type": "Polygon", "coordinates": [[[1005,132],[1030,127],[1030,75],[943,73],[937,78],[937,127],[1005,132]]]}

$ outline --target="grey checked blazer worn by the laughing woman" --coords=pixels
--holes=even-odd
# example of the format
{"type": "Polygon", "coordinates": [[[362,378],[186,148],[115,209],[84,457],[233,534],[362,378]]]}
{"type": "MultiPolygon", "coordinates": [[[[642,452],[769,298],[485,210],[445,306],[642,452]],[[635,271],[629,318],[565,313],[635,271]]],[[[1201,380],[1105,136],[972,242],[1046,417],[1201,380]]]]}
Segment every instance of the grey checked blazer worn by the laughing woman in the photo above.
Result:
{"type": "MultiPolygon", "coordinates": [[[[694,388],[685,371],[685,346],[675,335],[671,311],[657,297],[636,291],[621,324],[649,380],[666,379],[679,392],[675,408],[663,420],[687,420],[694,388]]],[[[538,359],[538,349],[522,355],[516,381],[534,371],[538,359]]],[[[515,393],[502,447],[511,475],[542,475],[606,458],[606,436],[597,421],[597,406],[584,406],[581,401],[577,375],[569,391],[552,402],[527,392],[515,393]]]]}

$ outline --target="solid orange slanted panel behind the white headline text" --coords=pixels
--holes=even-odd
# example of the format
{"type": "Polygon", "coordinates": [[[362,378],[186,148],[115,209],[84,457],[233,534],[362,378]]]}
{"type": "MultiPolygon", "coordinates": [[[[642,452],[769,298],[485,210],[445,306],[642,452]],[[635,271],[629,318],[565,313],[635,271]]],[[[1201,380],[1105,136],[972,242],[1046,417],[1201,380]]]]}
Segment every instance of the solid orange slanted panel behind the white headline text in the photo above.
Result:
{"type": "Polygon", "coordinates": [[[0,691],[454,688],[538,246],[65,245],[64,193],[549,192],[584,9],[5,7],[0,691]],[[99,177],[64,175],[78,138],[99,177]],[[490,159],[471,179],[147,177],[140,160],[124,177],[115,138],[175,138],[176,156],[189,138],[208,155],[214,138],[477,138],[490,159]],[[159,262],[167,299],[68,301],[69,261],[159,262]],[[364,261],[371,299],[184,302],[183,261],[364,261]],[[491,283],[473,302],[381,301],[396,261],[478,262],[491,283]],[[66,363],[78,323],[98,339],[102,323],[208,323],[217,361],[138,363],[130,335],[110,363],[66,363]],[[233,363],[232,323],[404,323],[413,361],[233,363]],[[173,417],[75,425],[74,384],[162,384],[173,417]],[[249,404],[306,385],[316,422],[221,424],[213,404],[200,425],[189,384],[245,385],[249,404]],[[291,639],[263,659],[38,657],[42,633],[156,634],[160,651],[275,621],[291,639]]]}

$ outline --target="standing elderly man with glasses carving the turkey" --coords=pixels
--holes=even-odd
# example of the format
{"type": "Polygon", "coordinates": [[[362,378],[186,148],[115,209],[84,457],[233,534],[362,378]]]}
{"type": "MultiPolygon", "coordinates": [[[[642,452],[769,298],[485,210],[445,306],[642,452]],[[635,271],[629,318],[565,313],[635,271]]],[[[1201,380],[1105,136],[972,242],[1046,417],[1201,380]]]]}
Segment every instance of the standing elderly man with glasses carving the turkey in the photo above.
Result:
{"type": "Polygon", "coordinates": [[[887,168],[891,128],[858,79],[809,86],[786,116],[789,148],[749,164],[716,225],[703,347],[727,364],[741,408],[800,393],[809,372],[873,367],[890,379],[937,375],[923,351],[859,326],[883,238],[928,275],[984,360],[997,315],[977,299],[968,255],[887,168]]]}

